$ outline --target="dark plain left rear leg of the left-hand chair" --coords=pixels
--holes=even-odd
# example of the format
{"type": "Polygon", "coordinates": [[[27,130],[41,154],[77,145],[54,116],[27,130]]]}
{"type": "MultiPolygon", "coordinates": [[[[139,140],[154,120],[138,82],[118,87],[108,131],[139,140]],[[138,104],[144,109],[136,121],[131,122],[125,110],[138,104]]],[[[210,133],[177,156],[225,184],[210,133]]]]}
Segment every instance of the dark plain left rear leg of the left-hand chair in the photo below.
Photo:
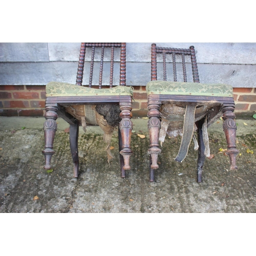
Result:
{"type": "Polygon", "coordinates": [[[74,177],[77,178],[79,174],[79,158],[78,158],[78,134],[79,134],[79,123],[70,124],[69,140],[70,150],[74,163],[74,177]]]}

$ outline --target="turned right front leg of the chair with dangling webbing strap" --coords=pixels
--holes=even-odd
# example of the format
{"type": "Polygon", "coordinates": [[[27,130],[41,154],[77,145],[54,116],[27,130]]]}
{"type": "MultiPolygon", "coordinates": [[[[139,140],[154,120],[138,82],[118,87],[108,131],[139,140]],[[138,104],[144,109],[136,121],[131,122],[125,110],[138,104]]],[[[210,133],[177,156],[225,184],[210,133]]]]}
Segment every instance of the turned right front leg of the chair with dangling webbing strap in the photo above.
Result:
{"type": "Polygon", "coordinates": [[[239,151],[237,150],[236,146],[236,131],[237,125],[234,121],[235,115],[233,113],[234,107],[233,106],[224,106],[222,108],[223,113],[223,131],[225,132],[226,140],[227,140],[227,151],[225,155],[228,155],[230,158],[230,169],[237,169],[236,165],[236,157],[239,151]]]}

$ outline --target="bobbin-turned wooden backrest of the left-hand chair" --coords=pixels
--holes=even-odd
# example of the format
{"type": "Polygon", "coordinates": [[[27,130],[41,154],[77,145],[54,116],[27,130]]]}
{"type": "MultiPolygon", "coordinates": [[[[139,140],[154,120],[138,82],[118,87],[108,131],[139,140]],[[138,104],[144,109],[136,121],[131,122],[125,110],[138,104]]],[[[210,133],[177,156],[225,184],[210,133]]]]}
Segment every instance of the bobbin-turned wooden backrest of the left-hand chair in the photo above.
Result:
{"type": "MultiPolygon", "coordinates": [[[[125,47],[126,44],[125,42],[82,42],[81,43],[81,48],[80,48],[80,55],[79,55],[79,63],[78,63],[78,70],[77,70],[77,76],[76,76],[76,84],[78,86],[82,86],[82,80],[83,80],[83,75],[84,75],[84,61],[86,60],[86,49],[87,48],[91,48],[91,60],[90,62],[90,68],[88,66],[88,78],[89,81],[86,84],[87,86],[89,86],[89,88],[91,88],[92,86],[98,86],[99,89],[101,89],[102,85],[106,85],[106,83],[108,83],[108,85],[110,87],[113,87],[113,77],[114,77],[114,52],[116,48],[120,49],[120,73],[119,73],[119,85],[120,86],[125,86],[125,47]],[[104,60],[104,50],[106,48],[110,48],[110,58],[108,60],[104,60]],[[99,60],[95,60],[95,56],[96,56],[96,51],[100,51],[99,52],[99,56],[100,59],[99,60]],[[93,74],[95,74],[94,72],[94,63],[95,62],[99,62],[99,70],[98,70],[98,83],[93,82],[93,74]],[[109,79],[108,82],[103,82],[102,84],[102,77],[103,77],[103,62],[108,62],[108,66],[110,64],[110,69],[109,69],[109,79]]],[[[119,53],[118,53],[119,54],[119,53]]],[[[89,64],[89,63],[88,63],[89,64]]],[[[105,72],[106,73],[106,72],[105,72]]],[[[104,73],[104,74],[105,74],[104,73]]],[[[95,79],[94,79],[95,81],[95,79]]],[[[116,84],[118,85],[118,84],[116,84]]]]}

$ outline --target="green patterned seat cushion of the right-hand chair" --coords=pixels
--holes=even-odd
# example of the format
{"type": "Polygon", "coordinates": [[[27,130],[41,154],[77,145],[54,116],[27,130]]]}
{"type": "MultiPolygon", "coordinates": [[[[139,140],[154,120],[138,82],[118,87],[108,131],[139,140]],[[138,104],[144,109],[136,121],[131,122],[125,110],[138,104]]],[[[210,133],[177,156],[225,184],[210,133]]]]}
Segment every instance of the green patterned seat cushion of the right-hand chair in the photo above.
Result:
{"type": "Polygon", "coordinates": [[[151,81],[146,85],[147,95],[197,95],[233,97],[233,88],[222,83],[151,81]]]}

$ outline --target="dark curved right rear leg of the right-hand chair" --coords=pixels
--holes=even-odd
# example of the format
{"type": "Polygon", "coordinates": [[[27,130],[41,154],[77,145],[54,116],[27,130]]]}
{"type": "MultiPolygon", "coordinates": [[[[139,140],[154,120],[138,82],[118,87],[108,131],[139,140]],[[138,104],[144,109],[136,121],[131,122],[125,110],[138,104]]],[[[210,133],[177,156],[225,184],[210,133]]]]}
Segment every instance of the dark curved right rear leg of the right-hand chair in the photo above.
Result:
{"type": "Polygon", "coordinates": [[[198,121],[197,127],[197,137],[198,137],[198,160],[197,160],[197,182],[202,182],[202,172],[203,172],[203,165],[204,165],[204,160],[205,160],[205,155],[204,155],[204,141],[203,141],[203,131],[202,131],[202,126],[204,123],[204,119],[198,121]]]}

